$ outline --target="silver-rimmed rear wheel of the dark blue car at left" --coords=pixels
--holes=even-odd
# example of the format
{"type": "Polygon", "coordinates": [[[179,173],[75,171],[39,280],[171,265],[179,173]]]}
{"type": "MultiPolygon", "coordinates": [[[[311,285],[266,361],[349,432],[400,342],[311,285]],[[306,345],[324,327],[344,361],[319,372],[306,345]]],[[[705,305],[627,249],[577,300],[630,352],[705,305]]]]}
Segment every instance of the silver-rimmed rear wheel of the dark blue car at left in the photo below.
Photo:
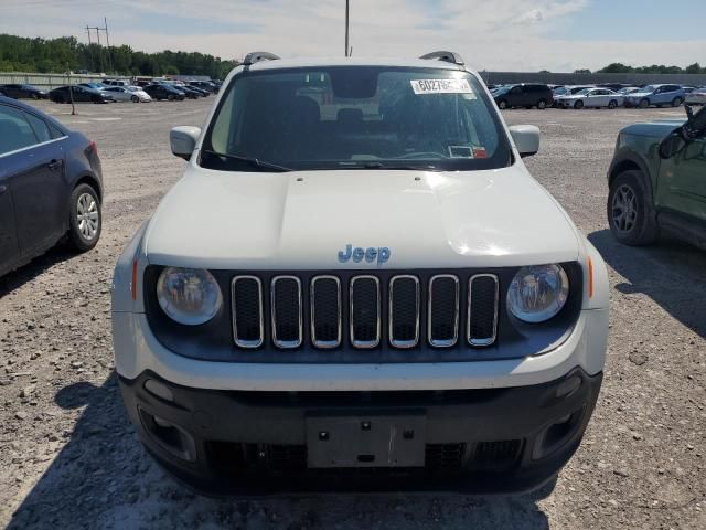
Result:
{"type": "Polygon", "coordinates": [[[71,194],[68,242],[78,252],[87,252],[98,244],[103,216],[98,193],[88,184],[78,184],[71,194]]]}

